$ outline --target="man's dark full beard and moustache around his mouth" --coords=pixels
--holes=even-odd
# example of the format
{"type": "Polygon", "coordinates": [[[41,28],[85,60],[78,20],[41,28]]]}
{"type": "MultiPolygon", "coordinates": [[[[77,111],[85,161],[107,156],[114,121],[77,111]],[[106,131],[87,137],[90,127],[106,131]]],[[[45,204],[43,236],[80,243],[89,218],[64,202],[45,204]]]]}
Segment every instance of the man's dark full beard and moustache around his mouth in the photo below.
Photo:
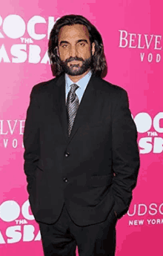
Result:
{"type": "Polygon", "coordinates": [[[63,68],[64,72],[67,73],[70,76],[80,76],[83,73],[85,73],[89,68],[91,68],[92,65],[92,56],[88,59],[82,59],[79,57],[70,57],[69,59],[66,59],[65,61],[61,61],[61,67],[63,68]],[[73,64],[68,66],[68,62],[72,61],[80,61],[82,62],[82,65],[79,64],[73,64]]]}

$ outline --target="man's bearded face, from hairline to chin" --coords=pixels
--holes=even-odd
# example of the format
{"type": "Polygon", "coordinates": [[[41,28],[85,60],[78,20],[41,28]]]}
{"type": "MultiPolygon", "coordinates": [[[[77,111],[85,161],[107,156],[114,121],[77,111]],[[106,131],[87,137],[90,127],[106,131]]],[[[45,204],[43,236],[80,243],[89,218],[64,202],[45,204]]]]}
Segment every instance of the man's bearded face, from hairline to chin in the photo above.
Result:
{"type": "Polygon", "coordinates": [[[70,76],[85,73],[91,65],[95,45],[90,45],[89,32],[82,24],[61,27],[59,32],[59,57],[64,72],[70,76]]]}

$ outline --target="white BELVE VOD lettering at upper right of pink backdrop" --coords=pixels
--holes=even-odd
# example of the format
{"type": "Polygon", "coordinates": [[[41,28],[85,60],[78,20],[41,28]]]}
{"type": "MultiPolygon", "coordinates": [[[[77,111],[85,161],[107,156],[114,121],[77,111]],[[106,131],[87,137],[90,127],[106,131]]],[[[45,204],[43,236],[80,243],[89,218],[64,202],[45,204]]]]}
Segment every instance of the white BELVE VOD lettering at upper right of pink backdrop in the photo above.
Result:
{"type": "Polygon", "coordinates": [[[162,59],[162,36],[153,34],[129,33],[119,30],[119,47],[140,49],[140,60],[159,63],[162,59]]]}

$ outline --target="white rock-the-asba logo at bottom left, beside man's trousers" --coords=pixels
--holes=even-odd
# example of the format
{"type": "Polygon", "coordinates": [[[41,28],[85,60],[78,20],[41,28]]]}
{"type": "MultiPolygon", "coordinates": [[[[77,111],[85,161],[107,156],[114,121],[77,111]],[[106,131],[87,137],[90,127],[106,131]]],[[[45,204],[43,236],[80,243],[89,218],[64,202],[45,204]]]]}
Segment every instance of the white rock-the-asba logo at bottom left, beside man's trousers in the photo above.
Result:
{"type": "Polygon", "coordinates": [[[4,227],[1,225],[3,232],[0,229],[0,244],[41,240],[39,226],[29,224],[29,222],[35,223],[35,221],[33,214],[30,214],[30,203],[28,200],[22,206],[14,200],[7,200],[1,203],[1,222],[3,226],[7,224],[7,228],[4,231],[4,227]]]}

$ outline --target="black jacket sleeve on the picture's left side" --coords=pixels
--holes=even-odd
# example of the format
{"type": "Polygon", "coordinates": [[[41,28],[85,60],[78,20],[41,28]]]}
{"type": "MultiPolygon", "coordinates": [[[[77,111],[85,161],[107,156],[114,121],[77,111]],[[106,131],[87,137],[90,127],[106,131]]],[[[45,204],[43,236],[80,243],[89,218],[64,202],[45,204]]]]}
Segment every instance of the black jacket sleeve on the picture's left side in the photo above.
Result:
{"type": "Polygon", "coordinates": [[[36,102],[36,87],[30,93],[30,105],[24,126],[24,173],[27,175],[29,193],[35,179],[36,163],[39,160],[39,105],[36,102]]]}

